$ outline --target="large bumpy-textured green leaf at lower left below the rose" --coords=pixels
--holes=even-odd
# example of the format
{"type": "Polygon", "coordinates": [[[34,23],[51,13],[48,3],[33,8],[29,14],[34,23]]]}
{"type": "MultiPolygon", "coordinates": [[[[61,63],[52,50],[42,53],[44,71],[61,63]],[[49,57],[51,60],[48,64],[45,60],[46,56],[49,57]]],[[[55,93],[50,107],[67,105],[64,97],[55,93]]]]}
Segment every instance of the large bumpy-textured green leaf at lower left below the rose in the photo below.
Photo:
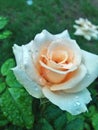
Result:
{"type": "Polygon", "coordinates": [[[32,128],[32,98],[24,89],[8,88],[0,97],[3,114],[14,125],[32,128]]]}

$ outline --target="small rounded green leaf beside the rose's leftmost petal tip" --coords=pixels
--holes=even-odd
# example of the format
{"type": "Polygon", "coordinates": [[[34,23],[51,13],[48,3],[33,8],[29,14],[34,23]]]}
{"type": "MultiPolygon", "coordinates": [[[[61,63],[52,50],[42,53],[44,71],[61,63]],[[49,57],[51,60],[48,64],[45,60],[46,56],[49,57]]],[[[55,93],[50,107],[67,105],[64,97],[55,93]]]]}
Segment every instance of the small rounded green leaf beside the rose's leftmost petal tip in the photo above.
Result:
{"type": "Polygon", "coordinates": [[[15,66],[15,62],[13,59],[8,59],[1,66],[1,73],[3,76],[6,76],[11,68],[15,66]]]}

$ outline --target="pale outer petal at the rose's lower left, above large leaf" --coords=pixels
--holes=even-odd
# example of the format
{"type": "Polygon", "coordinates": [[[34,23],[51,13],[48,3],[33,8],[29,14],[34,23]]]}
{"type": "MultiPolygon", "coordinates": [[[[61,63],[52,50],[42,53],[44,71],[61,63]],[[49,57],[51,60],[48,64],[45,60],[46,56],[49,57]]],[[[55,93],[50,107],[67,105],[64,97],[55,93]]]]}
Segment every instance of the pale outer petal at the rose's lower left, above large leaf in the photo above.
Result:
{"type": "Polygon", "coordinates": [[[16,76],[16,79],[25,87],[25,89],[28,91],[30,95],[36,98],[43,97],[40,86],[29,78],[29,76],[23,68],[17,66],[12,70],[16,76]]]}

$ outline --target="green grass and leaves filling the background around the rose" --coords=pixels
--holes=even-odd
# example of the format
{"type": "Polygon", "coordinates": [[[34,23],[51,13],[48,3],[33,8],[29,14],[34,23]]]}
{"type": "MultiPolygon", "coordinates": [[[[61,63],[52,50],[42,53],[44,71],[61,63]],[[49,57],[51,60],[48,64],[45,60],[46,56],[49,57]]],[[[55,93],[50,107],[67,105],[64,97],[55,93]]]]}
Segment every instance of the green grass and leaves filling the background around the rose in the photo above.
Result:
{"type": "Polygon", "coordinates": [[[42,29],[53,34],[68,29],[82,49],[98,54],[98,41],[73,35],[74,20],[79,17],[98,25],[97,6],[97,0],[34,0],[32,6],[26,0],[0,0],[0,16],[7,19],[0,34],[11,32],[0,39],[1,130],[98,130],[98,79],[89,86],[93,100],[88,112],[71,116],[47,100],[31,97],[10,69],[15,66],[13,44],[27,44],[42,29]]]}

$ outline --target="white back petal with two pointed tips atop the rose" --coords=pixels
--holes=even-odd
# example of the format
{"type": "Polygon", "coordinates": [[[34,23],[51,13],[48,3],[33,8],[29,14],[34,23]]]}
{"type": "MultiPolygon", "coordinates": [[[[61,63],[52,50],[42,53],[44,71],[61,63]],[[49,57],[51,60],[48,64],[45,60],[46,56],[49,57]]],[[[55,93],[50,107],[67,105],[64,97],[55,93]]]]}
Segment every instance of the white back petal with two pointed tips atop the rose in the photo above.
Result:
{"type": "Polygon", "coordinates": [[[68,31],[65,30],[60,34],[53,35],[49,33],[47,30],[43,30],[41,33],[37,34],[34,38],[33,44],[33,60],[36,63],[36,59],[39,56],[39,52],[43,48],[47,48],[49,44],[56,39],[70,39],[68,31]]]}

